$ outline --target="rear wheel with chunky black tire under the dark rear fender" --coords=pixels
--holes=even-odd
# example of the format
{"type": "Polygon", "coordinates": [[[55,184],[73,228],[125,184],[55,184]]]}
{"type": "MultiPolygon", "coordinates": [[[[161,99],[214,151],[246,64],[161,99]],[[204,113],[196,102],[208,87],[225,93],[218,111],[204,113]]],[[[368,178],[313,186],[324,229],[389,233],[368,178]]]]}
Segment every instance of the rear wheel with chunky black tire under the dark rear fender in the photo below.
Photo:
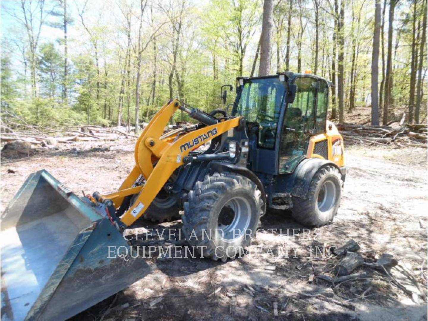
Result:
{"type": "Polygon", "coordinates": [[[333,221],[340,205],[342,175],[327,165],[315,173],[306,198],[292,196],[294,219],[306,226],[323,226],[333,221]]]}

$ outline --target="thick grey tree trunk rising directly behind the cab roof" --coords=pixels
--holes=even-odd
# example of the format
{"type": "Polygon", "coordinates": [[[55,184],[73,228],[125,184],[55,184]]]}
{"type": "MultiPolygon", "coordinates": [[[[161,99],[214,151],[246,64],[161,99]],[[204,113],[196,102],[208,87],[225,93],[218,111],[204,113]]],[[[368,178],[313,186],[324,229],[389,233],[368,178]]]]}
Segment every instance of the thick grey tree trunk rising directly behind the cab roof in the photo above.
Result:
{"type": "Polygon", "coordinates": [[[272,34],[273,1],[265,0],[263,3],[262,35],[260,36],[260,65],[259,76],[270,73],[270,36],[272,34]]]}

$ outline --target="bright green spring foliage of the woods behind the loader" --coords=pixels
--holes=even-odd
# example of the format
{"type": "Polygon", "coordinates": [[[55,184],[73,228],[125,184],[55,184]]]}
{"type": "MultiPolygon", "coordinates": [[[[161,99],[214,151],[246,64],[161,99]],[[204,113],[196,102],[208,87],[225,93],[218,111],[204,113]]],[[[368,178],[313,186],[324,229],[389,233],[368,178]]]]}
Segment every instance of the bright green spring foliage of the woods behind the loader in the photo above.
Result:
{"type": "MultiPolygon", "coordinates": [[[[371,80],[374,3],[343,3],[346,5],[343,30],[345,105],[349,104],[351,89],[353,43],[357,52],[354,70],[355,101],[356,105],[366,104],[371,80]]],[[[16,9],[16,14],[20,12],[20,3],[10,2],[9,6],[16,9]]],[[[6,46],[6,39],[3,37],[2,50],[7,47],[7,51],[2,51],[1,56],[2,109],[13,111],[30,124],[47,127],[77,123],[112,125],[119,118],[119,105],[122,104],[122,125],[128,119],[130,123],[134,123],[137,39],[141,14],[139,3],[89,1],[84,7],[77,3],[77,6],[66,7],[64,17],[65,6],[66,1],[45,3],[45,14],[48,15],[42,26],[36,52],[36,98],[30,98],[32,82],[27,30],[19,20],[12,18],[11,29],[3,31],[9,42],[6,46]],[[130,30],[127,17],[130,17],[130,30]],[[68,27],[66,84],[64,18],[68,27]],[[65,85],[67,99],[63,94],[65,85]]],[[[315,65],[313,2],[294,1],[292,6],[290,70],[297,71],[298,35],[303,29],[301,69],[305,71],[315,65]]],[[[318,74],[331,80],[332,51],[335,45],[334,3],[323,1],[319,6],[318,74]]],[[[394,42],[398,45],[396,49],[393,48],[392,92],[395,104],[406,104],[409,96],[412,6],[413,2],[400,2],[396,8],[394,42]]],[[[258,63],[255,61],[255,54],[262,29],[262,7],[262,1],[211,1],[202,5],[184,2],[184,7],[178,1],[149,2],[142,17],[141,43],[146,47],[142,53],[140,69],[140,121],[148,122],[155,115],[169,100],[170,90],[173,98],[179,96],[183,102],[205,111],[225,108],[220,102],[220,87],[223,84],[235,87],[235,78],[240,75],[249,76],[253,64],[258,63]],[[175,73],[172,72],[174,70],[175,73]]],[[[39,8],[33,6],[34,17],[40,16],[39,8]]],[[[284,71],[288,10],[288,2],[275,3],[271,74],[277,70],[284,71]]],[[[422,23],[422,5],[418,4],[417,14],[418,21],[422,23]]],[[[12,15],[9,16],[11,17],[12,15]]],[[[36,22],[39,21],[36,19],[34,22],[36,32],[36,22]]],[[[386,51],[387,24],[384,33],[386,51]]],[[[381,68],[381,62],[379,65],[381,68]]],[[[425,74],[426,62],[423,67],[425,74]]],[[[254,76],[257,75],[258,68],[255,70],[254,76]]],[[[427,78],[424,79],[426,83],[427,78]]],[[[423,87],[426,87],[425,84],[423,87]]],[[[426,90],[424,104],[425,97],[426,90]]],[[[235,90],[228,92],[227,103],[231,104],[234,98],[235,90]]],[[[424,112],[426,113],[426,108],[422,111],[424,112]]],[[[176,113],[174,121],[179,120],[189,119],[185,114],[176,113]]]]}

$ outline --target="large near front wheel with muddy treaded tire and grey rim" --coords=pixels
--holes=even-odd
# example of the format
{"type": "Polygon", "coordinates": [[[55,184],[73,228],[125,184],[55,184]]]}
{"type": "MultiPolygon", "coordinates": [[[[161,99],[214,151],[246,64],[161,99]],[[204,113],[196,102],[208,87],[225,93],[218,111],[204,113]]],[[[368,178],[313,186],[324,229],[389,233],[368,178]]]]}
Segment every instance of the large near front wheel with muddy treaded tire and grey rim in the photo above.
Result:
{"type": "Polygon", "coordinates": [[[202,256],[214,261],[235,258],[256,234],[263,200],[249,178],[215,172],[195,184],[184,203],[183,232],[202,256]],[[211,232],[211,235],[210,235],[211,232]]]}

